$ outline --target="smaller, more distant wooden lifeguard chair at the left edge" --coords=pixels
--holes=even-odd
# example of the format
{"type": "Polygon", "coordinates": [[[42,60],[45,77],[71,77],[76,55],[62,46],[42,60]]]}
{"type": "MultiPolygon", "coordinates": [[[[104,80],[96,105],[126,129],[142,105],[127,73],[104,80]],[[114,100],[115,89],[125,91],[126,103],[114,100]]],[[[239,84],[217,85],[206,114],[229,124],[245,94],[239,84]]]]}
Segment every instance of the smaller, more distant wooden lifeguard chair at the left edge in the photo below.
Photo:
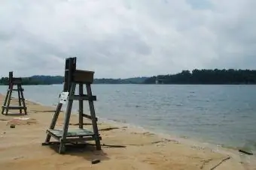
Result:
{"type": "Polygon", "coordinates": [[[24,110],[24,114],[27,115],[27,112],[26,112],[27,108],[26,108],[26,103],[25,103],[23,91],[24,91],[24,89],[22,88],[22,78],[20,78],[20,77],[19,78],[14,78],[13,72],[12,71],[9,72],[9,85],[8,85],[7,94],[5,96],[5,101],[4,101],[4,104],[2,106],[2,115],[8,115],[8,111],[11,110],[11,109],[20,110],[20,114],[22,114],[23,110],[24,110]],[[14,88],[14,85],[17,85],[17,88],[14,88]],[[11,94],[12,94],[13,91],[18,92],[19,106],[10,106],[11,94]]]}

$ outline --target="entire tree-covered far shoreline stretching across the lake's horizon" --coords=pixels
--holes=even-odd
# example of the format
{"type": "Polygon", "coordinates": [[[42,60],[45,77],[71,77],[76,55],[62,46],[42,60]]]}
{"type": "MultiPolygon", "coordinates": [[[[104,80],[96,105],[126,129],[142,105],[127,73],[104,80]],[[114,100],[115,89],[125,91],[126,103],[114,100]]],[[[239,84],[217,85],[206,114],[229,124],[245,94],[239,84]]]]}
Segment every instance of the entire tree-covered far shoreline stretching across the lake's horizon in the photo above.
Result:
{"type": "MultiPolygon", "coordinates": [[[[63,76],[23,77],[23,85],[62,84],[63,76]]],[[[181,73],[129,79],[94,79],[93,84],[256,84],[256,70],[182,70],[181,73]]],[[[0,79],[0,85],[8,85],[8,77],[0,79]]]]}

